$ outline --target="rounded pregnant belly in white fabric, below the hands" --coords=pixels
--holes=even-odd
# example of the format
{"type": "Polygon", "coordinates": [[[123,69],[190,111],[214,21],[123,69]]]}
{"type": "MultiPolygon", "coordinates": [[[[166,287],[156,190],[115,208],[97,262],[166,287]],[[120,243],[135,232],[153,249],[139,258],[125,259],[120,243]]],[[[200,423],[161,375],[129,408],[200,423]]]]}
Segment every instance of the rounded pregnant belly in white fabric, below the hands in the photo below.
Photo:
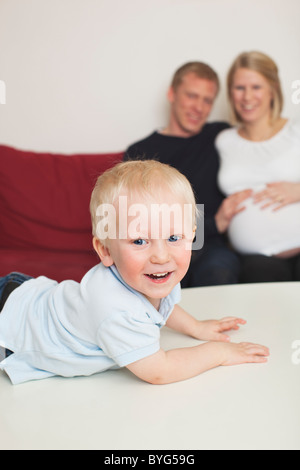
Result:
{"type": "Polygon", "coordinates": [[[246,209],[233,218],[228,230],[236,251],[278,256],[300,249],[300,203],[277,212],[272,208],[261,209],[252,199],[244,205],[246,209]]]}

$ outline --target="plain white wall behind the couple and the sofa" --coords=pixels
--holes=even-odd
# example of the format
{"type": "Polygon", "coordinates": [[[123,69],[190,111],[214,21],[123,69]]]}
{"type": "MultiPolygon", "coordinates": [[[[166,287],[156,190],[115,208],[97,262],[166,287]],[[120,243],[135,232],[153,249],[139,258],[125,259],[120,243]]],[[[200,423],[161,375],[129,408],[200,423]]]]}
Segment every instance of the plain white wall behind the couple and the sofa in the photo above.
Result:
{"type": "MultiPolygon", "coordinates": [[[[252,49],[276,60],[284,114],[300,116],[299,0],[0,0],[0,143],[124,150],[166,123],[178,66],[206,61],[224,84],[252,49]]],[[[227,117],[223,86],[211,119],[227,117]]]]}

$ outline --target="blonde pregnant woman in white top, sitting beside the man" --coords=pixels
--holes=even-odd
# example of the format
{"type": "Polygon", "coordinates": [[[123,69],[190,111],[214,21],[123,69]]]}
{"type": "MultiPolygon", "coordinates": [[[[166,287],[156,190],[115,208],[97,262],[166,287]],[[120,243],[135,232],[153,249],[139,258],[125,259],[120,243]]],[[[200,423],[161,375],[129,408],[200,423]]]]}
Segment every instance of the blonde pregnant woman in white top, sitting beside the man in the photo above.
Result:
{"type": "Polygon", "coordinates": [[[241,54],[228,74],[237,126],[219,134],[219,185],[227,195],[251,189],[228,235],[241,254],[241,282],[300,280],[300,120],[281,116],[274,61],[241,54]]]}

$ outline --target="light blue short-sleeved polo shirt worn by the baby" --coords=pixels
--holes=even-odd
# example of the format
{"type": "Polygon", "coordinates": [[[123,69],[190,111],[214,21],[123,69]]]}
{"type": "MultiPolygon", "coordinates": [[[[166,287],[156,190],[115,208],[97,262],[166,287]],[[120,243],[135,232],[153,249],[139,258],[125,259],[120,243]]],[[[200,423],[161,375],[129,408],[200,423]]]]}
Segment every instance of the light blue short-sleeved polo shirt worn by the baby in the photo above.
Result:
{"type": "Polygon", "coordinates": [[[0,369],[19,384],[124,367],[160,349],[160,329],[179,301],[178,284],[157,311],[103,264],[80,283],[26,281],[0,314],[0,345],[14,351],[0,369]]]}

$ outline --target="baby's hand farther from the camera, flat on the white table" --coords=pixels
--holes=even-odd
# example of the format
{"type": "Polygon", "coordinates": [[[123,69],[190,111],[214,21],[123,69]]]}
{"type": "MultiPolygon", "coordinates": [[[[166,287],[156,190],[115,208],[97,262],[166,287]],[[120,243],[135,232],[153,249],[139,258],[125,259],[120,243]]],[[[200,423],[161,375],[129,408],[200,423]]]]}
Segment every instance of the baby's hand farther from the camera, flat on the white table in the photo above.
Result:
{"type": "Polygon", "coordinates": [[[206,320],[199,322],[198,339],[202,341],[225,341],[229,342],[230,337],[223,334],[224,331],[238,330],[239,324],[245,325],[242,318],[226,317],[222,320],[206,320]]]}

